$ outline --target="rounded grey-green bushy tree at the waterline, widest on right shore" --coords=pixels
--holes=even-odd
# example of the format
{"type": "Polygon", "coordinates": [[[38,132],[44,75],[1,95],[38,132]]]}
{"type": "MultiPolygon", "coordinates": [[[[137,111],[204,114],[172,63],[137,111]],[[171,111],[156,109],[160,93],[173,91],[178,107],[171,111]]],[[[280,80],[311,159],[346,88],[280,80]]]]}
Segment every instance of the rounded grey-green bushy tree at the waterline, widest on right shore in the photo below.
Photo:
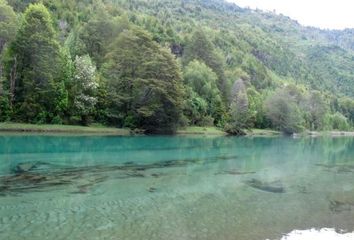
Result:
{"type": "Polygon", "coordinates": [[[284,90],[278,90],[265,102],[266,116],[273,127],[286,134],[299,132],[303,128],[303,118],[299,106],[284,90]]]}

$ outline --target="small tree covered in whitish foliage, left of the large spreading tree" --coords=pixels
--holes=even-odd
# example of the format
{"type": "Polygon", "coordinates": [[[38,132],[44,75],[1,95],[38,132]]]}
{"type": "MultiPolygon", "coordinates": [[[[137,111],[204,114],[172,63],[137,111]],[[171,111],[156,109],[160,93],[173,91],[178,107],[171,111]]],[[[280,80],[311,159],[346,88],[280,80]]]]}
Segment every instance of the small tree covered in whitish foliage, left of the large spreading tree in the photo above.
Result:
{"type": "Polygon", "coordinates": [[[75,72],[70,90],[71,115],[74,122],[87,125],[97,103],[98,78],[96,67],[88,55],[77,56],[74,65],[75,72]]]}

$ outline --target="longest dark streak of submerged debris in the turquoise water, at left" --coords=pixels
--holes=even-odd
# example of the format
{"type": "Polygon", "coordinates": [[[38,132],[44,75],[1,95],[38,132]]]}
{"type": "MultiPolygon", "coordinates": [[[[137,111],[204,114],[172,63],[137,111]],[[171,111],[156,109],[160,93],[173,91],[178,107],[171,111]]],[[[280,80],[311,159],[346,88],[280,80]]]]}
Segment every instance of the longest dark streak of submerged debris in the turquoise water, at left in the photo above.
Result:
{"type": "MultiPolygon", "coordinates": [[[[44,162],[23,162],[13,168],[12,174],[0,177],[0,196],[43,191],[61,185],[72,185],[77,189],[72,193],[85,194],[95,185],[109,178],[158,178],[162,176],[161,173],[145,172],[152,169],[184,167],[189,164],[205,164],[235,158],[236,156],[215,156],[208,158],[173,159],[149,164],[128,161],[121,165],[82,167],[61,166],[44,162]]],[[[230,174],[236,174],[236,172],[230,174]]]]}

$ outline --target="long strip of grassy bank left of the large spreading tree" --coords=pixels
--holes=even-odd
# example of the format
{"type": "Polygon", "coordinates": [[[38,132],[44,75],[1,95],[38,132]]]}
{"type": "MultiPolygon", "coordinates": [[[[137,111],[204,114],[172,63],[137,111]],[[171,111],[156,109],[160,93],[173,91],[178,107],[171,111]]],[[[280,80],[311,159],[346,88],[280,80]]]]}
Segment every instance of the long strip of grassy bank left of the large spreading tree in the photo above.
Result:
{"type": "Polygon", "coordinates": [[[131,135],[129,129],[101,126],[37,125],[23,123],[0,123],[0,132],[14,133],[67,133],[67,134],[107,134],[117,136],[131,135]]]}

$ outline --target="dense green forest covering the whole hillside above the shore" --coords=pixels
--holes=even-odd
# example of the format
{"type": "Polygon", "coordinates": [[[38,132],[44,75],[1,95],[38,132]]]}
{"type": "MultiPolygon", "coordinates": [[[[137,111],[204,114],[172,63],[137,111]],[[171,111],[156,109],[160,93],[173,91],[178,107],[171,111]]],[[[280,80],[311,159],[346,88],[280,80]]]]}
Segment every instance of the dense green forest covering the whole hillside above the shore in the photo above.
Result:
{"type": "Polygon", "coordinates": [[[0,121],[354,127],[354,30],[222,0],[0,0],[0,121]]]}

